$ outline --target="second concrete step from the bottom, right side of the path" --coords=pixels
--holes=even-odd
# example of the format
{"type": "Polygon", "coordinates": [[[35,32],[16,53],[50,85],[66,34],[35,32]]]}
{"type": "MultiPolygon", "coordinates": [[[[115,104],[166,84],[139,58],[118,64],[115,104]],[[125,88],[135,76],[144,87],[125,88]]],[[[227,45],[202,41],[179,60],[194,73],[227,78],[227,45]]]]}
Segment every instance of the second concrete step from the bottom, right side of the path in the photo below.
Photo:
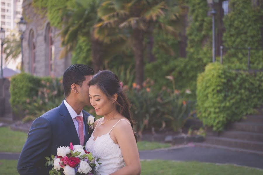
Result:
{"type": "Polygon", "coordinates": [[[263,151],[263,142],[260,141],[246,141],[240,139],[229,139],[225,137],[207,136],[205,138],[205,143],[219,145],[219,146],[227,146],[231,148],[263,151]]]}

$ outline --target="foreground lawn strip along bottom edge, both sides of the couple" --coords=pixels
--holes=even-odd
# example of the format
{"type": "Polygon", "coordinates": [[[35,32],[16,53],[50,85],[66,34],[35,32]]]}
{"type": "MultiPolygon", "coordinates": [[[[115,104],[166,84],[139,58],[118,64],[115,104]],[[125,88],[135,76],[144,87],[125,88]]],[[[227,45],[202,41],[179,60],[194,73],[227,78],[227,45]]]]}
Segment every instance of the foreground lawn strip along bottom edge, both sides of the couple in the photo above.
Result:
{"type": "MultiPolygon", "coordinates": [[[[0,160],[1,175],[19,175],[17,160],[0,160]]],[[[164,160],[141,161],[142,175],[262,175],[263,170],[234,165],[216,165],[200,162],[173,162],[164,160]]]]}

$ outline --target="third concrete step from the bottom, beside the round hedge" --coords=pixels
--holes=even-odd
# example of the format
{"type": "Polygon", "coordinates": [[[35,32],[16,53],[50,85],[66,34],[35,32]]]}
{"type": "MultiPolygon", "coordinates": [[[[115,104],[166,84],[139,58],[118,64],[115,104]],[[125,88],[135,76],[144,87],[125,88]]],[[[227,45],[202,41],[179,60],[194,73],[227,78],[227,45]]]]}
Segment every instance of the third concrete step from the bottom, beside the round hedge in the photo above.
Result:
{"type": "Polygon", "coordinates": [[[244,131],[223,131],[220,132],[219,136],[230,139],[240,139],[246,141],[261,141],[263,142],[263,133],[244,132],[244,131]]]}

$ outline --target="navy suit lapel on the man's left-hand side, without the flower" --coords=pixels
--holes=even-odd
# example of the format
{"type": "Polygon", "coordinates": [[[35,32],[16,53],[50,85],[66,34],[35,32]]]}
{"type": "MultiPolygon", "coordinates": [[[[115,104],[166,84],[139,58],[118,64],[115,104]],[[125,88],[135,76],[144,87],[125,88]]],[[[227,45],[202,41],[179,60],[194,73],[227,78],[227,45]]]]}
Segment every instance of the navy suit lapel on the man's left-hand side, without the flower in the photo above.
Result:
{"type": "Polygon", "coordinates": [[[59,106],[59,112],[60,112],[60,115],[64,116],[62,118],[62,121],[65,124],[67,134],[68,134],[68,139],[70,140],[70,142],[73,143],[73,145],[80,144],[79,143],[79,136],[78,136],[76,127],[75,127],[74,122],[70,116],[70,113],[68,112],[67,107],[64,104],[64,101],[59,106]]]}

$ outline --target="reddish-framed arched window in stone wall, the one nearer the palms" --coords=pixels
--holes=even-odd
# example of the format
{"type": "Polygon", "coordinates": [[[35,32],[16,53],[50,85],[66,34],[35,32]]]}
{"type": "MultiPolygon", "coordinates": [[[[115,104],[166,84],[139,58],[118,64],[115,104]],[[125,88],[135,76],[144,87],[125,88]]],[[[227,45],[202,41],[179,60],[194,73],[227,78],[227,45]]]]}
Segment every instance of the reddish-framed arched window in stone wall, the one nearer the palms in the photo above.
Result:
{"type": "Polygon", "coordinates": [[[54,47],[54,40],[53,40],[53,32],[50,24],[47,24],[46,27],[46,51],[47,51],[47,60],[48,60],[48,69],[49,75],[54,73],[54,61],[55,61],[55,47],[54,47]]]}

